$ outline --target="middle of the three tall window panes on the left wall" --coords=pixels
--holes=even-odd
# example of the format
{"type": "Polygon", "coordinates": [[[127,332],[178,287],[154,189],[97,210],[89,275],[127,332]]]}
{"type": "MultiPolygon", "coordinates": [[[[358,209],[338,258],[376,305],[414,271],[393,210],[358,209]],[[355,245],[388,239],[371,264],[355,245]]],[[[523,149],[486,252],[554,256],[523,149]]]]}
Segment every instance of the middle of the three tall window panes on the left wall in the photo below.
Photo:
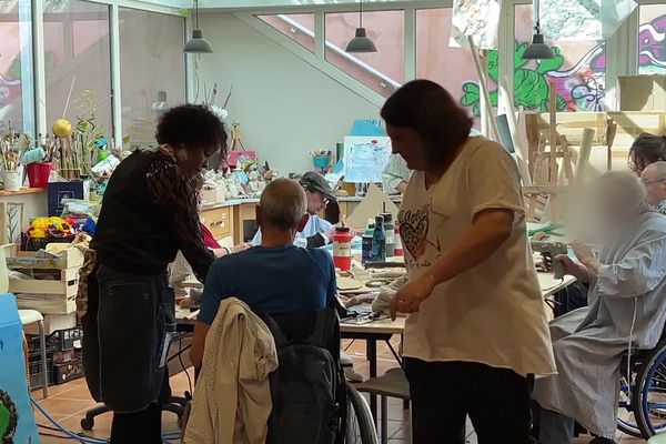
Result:
{"type": "MultiPolygon", "coordinates": [[[[48,4],[48,3],[47,3],[48,4]]],[[[109,7],[80,0],[44,10],[44,70],[48,124],[94,115],[95,132],[111,137],[109,7]],[[57,8],[57,10],[54,9],[57,8]]]]}

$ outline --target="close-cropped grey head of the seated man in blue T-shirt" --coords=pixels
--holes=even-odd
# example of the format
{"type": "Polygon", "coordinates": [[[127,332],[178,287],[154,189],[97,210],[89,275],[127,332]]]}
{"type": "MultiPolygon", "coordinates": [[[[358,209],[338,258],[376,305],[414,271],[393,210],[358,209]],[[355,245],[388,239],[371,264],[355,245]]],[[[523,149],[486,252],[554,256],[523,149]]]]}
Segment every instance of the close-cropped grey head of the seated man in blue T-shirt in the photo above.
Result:
{"type": "Polygon", "coordinates": [[[261,193],[261,224],[278,230],[295,230],[307,211],[305,191],[291,179],[275,179],[261,193]]]}

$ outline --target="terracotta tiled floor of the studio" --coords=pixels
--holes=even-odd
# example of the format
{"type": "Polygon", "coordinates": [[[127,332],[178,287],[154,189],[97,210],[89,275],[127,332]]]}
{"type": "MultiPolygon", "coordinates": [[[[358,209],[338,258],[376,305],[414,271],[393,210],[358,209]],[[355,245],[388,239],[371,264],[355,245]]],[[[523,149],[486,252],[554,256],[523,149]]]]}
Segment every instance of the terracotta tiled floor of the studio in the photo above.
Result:
{"type": "MultiPolygon", "coordinates": [[[[349,344],[349,343],[347,343],[349,344]]],[[[369,365],[365,361],[365,343],[362,341],[357,341],[351,344],[347,349],[347,353],[352,356],[354,362],[356,363],[355,369],[364,376],[369,374],[369,365]]],[[[380,345],[377,350],[377,371],[379,374],[382,374],[389,369],[396,366],[396,362],[393,359],[390,350],[385,345],[380,345]]],[[[193,372],[190,369],[190,375],[192,376],[193,372]]],[[[174,394],[182,394],[185,390],[189,390],[188,379],[184,373],[180,373],[171,379],[171,387],[174,394]]],[[[33,392],[33,396],[37,400],[41,400],[41,391],[33,392]]],[[[44,410],[53,416],[58,422],[60,422],[64,427],[74,432],[82,433],[80,422],[84,416],[85,411],[95,405],[94,401],[90,397],[88,392],[88,387],[85,385],[84,380],[73,381],[68,384],[58,385],[50,387],[49,398],[39,401],[40,405],[44,407],[44,410]]],[[[51,425],[47,418],[41,415],[39,412],[36,413],[37,422],[41,425],[51,425]]],[[[176,418],[175,415],[171,413],[164,413],[163,420],[163,430],[165,432],[173,431],[176,428],[176,418]]],[[[111,426],[111,414],[105,413],[95,418],[94,428],[91,432],[85,432],[88,435],[107,438],[110,433],[111,426]]],[[[468,427],[472,431],[472,427],[468,427]]],[[[47,430],[41,427],[40,431],[42,433],[49,433],[54,435],[60,435],[57,432],[47,430]]],[[[403,404],[397,400],[390,400],[389,402],[389,436],[391,444],[406,444],[410,438],[410,424],[408,424],[408,411],[403,410],[403,404]]],[[[579,437],[575,441],[576,444],[584,444],[591,441],[591,437],[579,437]]],[[[618,443],[620,444],[639,444],[645,443],[643,440],[635,440],[625,436],[617,437],[618,443]]],[[[46,436],[41,437],[42,444],[59,444],[65,443],[68,440],[63,440],[61,437],[54,436],[46,436]]],[[[69,442],[74,442],[73,440],[69,440],[69,442]]],[[[467,442],[470,444],[476,444],[476,436],[474,432],[470,432],[470,436],[467,437],[467,442]]]]}

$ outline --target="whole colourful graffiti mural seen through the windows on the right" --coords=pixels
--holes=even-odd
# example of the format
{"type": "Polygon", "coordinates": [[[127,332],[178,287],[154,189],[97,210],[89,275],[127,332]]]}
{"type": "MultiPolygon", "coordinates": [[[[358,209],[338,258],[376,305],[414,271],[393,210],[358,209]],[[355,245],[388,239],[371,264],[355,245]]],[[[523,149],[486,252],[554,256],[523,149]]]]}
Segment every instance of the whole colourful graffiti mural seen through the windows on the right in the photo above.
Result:
{"type": "MultiPolygon", "coordinates": [[[[514,101],[516,107],[526,110],[547,111],[549,84],[557,92],[558,111],[602,111],[605,109],[606,53],[603,42],[594,46],[571,69],[563,70],[564,56],[553,47],[555,58],[542,60],[536,65],[523,60],[528,42],[515,42],[514,51],[514,101]]],[[[639,28],[638,41],[639,73],[666,73],[666,14],[639,28]]],[[[497,52],[487,56],[491,84],[491,102],[497,105],[497,80],[500,75],[497,52]]],[[[465,82],[462,85],[461,104],[480,114],[478,83],[465,82]]]]}

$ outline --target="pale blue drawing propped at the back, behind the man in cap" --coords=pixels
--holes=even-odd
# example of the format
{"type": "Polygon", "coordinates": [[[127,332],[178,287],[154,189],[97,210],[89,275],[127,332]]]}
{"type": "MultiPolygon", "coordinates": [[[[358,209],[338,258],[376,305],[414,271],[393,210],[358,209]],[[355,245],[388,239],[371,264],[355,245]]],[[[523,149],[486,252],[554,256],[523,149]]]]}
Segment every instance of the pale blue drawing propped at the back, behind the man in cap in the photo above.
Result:
{"type": "Polygon", "coordinates": [[[356,183],[380,183],[391,155],[387,137],[344,138],[344,180],[356,183]]]}

